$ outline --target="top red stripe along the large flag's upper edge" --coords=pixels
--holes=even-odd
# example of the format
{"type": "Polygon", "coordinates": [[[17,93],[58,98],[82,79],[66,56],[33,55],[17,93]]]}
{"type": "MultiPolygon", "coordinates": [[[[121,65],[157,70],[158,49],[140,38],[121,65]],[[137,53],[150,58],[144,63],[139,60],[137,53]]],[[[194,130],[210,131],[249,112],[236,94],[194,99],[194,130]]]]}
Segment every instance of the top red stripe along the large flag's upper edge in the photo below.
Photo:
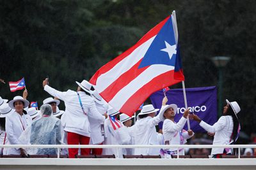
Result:
{"type": "Polygon", "coordinates": [[[110,69],[112,69],[116,64],[118,64],[118,62],[120,62],[121,60],[123,60],[125,57],[127,57],[129,54],[131,54],[136,48],[138,48],[138,46],[142,45],[143,43],[145,43],[146,41],[148,41],[148,39],[152,38],[153,36],[156,36],[156,34],[158,34],[158,32],[161,30],[161,28],[163,27],[163,25],[166,23],[166,21],[170,18],[167,17],[165,18],[162,22],[160,22],[159,24],[157,24],[154,28],[152,28],[150,31],[147,32],[147,34],[145,34],[139,41],[138,43],[136,43],[134,46],[132,46],[131,48],[129,48],[128,50],[126,50],[124,53],[122,53],[121,55],[119,55],[118,57],[116,57],[115,59],[111,60],[110,62],[108,62],[107,64],[105,64],[104,66],[100,67],[100,69],[92,76],[92,78],[90,79],[90,83],[92,83],[93,85],[96,85],[97,82],[97,78],[101,75],[104,74],[106,72],[108,72],[110,69]]]}

